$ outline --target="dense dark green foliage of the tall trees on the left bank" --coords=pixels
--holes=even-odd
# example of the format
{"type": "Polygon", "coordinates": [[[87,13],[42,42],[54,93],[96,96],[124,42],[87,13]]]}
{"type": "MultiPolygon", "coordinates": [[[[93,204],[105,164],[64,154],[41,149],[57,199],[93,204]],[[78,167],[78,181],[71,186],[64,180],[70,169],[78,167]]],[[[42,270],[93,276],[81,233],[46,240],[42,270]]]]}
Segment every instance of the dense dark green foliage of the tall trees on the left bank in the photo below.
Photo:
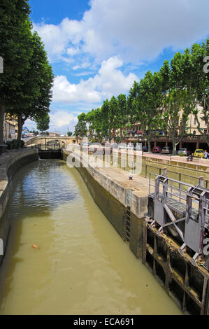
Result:
{"type": "Polygon", "coordinates": [[[27,0],[1,0],[0,55],[0,142],[3,137],[3,115],[18,118],[18,135],[27,118],[49,112],[53,73],[41,38],[32,34],[27,0]]]}

